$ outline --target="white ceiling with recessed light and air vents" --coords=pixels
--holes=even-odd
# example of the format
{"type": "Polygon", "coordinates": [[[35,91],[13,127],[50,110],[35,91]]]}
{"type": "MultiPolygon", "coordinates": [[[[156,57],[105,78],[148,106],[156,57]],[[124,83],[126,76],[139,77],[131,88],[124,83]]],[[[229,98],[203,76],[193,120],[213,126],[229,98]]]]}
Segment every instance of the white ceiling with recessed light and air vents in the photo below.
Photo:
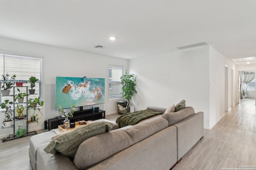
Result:
{"type": "Polygon", "coordinates": [[[124,59],[204,41],[249,57],[256,0],[0,0],[0,36],[124,59]]]}

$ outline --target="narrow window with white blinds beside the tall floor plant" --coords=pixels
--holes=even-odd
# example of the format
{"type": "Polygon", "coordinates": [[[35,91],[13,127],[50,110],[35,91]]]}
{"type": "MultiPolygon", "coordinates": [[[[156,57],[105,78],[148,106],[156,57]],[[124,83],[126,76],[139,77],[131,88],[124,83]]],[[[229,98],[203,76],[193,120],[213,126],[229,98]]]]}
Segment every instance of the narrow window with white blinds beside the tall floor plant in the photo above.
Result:
{"type": "Polygon", "coordinates": [[[121,98],[122,84],[120,77],[124,74],[122,67],[109,66],[109,99],[121,98]]]}

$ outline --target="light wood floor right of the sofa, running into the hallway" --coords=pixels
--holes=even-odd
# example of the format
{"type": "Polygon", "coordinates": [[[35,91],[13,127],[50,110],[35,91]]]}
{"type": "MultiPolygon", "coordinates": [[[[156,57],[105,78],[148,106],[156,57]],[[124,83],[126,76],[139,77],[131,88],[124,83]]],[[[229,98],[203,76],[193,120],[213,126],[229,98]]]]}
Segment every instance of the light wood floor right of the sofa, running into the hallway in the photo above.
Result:
{"type": "Polygon", "coordinates": [[[252,98],[242,99],[211,130],[204,130],[204,138],[174,170],[224,170],[245,165],[256,170],[256,106],[252,98]]]}

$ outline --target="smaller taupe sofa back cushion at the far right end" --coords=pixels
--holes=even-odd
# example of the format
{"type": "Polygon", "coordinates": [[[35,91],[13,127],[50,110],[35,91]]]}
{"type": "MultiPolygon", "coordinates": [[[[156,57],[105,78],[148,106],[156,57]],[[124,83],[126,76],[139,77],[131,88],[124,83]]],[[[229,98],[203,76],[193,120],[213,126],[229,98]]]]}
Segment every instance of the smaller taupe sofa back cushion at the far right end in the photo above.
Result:
{"type": "Polygon", "coordinates": [[[195,114],[193,107],[185,107],[176,112],[164,113],[162,114],[162,117],[166,119],[168,121],[168,125],[171,126],[193,114],[195,114]]]}

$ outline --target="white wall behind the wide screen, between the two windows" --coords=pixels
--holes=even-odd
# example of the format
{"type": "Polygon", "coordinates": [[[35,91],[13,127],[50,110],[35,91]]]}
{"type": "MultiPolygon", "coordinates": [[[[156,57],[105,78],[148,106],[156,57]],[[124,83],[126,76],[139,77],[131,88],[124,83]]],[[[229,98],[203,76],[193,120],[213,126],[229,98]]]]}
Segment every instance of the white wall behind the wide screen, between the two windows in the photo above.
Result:
{"type": "MultiPolygon", "coordinates": [[[[0,52],[42,57],[42,100],[44,100],[42,112],[45,120],[59,115],[58,111],[55,110],[56,76],[105,78],[105,104],[101,104],[100,109],[106,110],[106,114],[116,112],[116,101],[118,100],[108,99],[108,66],[109,64],[124,66],[127,69],[128,60],[4,37],[0,37],[0,52]]],[[[44,123],[39,127],[43,126],[44,123]]],[[[38,128],[38,126],[33,128],[38,128]]]]}

